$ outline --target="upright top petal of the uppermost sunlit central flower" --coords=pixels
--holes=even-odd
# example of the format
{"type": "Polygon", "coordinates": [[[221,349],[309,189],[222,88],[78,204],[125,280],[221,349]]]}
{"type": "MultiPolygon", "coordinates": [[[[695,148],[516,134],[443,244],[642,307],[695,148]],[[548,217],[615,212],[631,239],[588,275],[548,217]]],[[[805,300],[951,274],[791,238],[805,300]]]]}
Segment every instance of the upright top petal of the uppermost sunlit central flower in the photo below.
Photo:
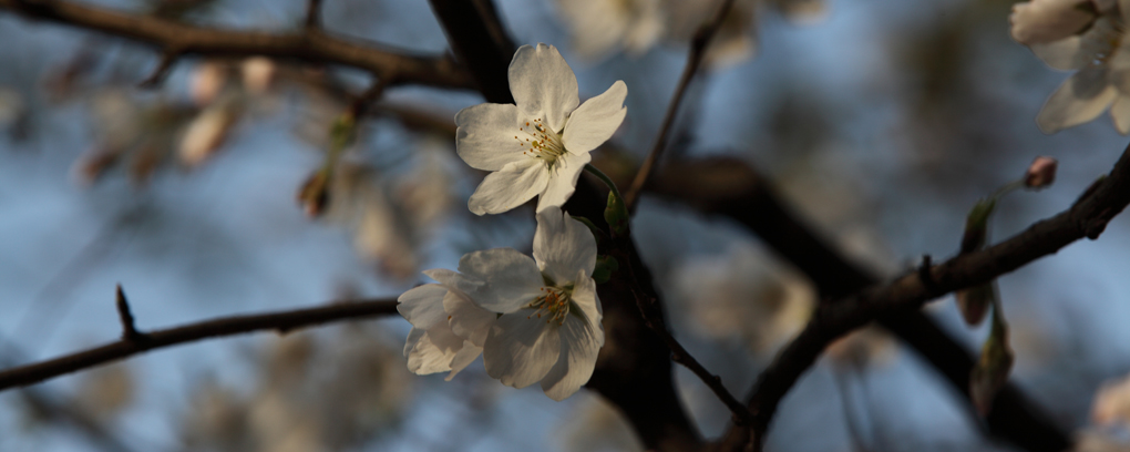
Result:
{"type": "Polygon", "coordinates": [[[553,45],[521,46],[508,75],[518,110],[527,118],[545,119],[555,132],[560,132],[565,118],[581,103],[576,76],[553,45]]]}

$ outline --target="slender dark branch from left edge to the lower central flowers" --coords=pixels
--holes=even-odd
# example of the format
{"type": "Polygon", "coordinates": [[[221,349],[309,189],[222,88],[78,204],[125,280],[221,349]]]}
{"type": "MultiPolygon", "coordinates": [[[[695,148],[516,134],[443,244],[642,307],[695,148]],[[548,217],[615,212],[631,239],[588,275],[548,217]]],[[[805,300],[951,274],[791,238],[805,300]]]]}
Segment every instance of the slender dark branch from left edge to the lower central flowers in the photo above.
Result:
{"type": "Polygon", "coordinates": [[[167,330],[151,331],[144,336],[122,339],[85,351],[2,371],[0,372],[0,391],[35,384],[47,379],[99,366],[155,348],[252,331],[275,330],[285,333],[290,330],[322,323],[395,313],[397,302],[394,299],[373,299],[341,302],[328,306],[270,314],[235,315],[208,320],[167,330]]]}

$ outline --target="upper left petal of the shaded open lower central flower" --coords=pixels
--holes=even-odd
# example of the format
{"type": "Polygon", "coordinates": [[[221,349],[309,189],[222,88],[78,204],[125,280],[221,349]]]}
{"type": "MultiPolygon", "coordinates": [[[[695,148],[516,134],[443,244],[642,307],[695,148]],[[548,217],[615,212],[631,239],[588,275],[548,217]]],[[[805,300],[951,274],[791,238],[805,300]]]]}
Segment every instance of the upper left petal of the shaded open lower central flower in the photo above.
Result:
{"type": "Polygon", "coordinates": [[[479,307],[492,312],[514,312],[541,293],[538,264],[513,249],[496,247],[463,254],[459,271],[486,282],[467,295],[479,307]]]}

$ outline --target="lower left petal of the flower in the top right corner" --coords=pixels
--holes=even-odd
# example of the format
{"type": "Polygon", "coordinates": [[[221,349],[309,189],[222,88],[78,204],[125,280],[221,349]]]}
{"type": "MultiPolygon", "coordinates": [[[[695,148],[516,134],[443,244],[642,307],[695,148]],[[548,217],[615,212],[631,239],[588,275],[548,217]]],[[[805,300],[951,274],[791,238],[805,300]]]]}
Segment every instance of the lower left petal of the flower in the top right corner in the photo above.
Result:
{"type": "Polygon", "coordinates": [[[1054,133],[1090,121],[1103,113],[1118,96],[1106,84],[1104,68],[1084,69],[1067,79],[1040,110],[1036,124],[1044,133],[1054,133]]]}

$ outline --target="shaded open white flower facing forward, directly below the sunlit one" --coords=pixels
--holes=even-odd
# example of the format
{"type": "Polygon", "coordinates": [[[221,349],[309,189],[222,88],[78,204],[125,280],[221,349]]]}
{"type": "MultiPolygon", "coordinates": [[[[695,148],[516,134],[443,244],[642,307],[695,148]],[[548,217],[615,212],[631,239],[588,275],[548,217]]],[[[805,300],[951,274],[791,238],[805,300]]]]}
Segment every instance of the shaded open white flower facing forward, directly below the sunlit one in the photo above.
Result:
{"type": "Polygon", "coordinates": [[[459,271],[481,281],[467,290],[471,299],[502,314],[483,350],[487,374],[514,388],[540,381],[560,401],[589,381],[605,345],[592,280],[597,242],[560,209],[537,218],[533,259],[512,249],[478,251],[460,259],[459,271]]]}

